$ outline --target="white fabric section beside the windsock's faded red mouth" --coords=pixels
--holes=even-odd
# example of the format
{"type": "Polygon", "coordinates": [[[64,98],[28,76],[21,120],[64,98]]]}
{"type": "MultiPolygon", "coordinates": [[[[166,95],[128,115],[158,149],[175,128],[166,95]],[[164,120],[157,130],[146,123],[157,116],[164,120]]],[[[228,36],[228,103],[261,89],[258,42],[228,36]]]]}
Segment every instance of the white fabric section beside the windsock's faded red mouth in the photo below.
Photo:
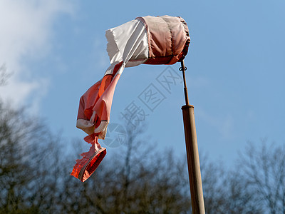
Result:
{"type": "Polygon", "coordinates": [[[113,29],[105,34],[108,44],[107,51],[110,57],[110,67],[106,74],[113,73],[116,64],[123,61],[118,73],[125,67],[138,66],[148,57],[147,31],[141,21],[135,19],[113,29]]]}

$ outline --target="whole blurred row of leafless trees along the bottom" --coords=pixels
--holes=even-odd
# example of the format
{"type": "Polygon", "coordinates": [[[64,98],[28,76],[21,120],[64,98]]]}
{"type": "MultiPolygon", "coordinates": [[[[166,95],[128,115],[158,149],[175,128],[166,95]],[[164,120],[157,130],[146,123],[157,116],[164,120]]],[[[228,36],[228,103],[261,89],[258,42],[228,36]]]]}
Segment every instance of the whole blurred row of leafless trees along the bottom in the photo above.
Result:
{"type": "MultiPolygon", "coordinates": [[[[70,176],[83,141],[69,143],[0,101],[0,213],[190,213],[186,156],[160,151],[142,128],[127,128],[81,183],[70,176]]],[[[249,144],[227,169],[200,155],[204,203],[211,213],[285,213],[285,147],[249,144]]]]}

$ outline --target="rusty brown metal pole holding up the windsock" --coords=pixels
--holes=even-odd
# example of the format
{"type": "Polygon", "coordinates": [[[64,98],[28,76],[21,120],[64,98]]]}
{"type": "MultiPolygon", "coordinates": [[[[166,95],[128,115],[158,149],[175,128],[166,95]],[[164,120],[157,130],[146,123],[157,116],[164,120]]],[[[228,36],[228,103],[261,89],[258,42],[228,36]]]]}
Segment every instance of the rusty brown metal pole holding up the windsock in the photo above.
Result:
{"type": "Polygon", "coordinates": [[[191,203],[193,214],[204,214],[204,198],[202,190],[202,179],[199,164],[199,152],[194,117],[194,106],[189,105],[188,92],[185,80],[184,61],[181,61],[181,68],[184,81],[184,93],[186,105],[182,106],[183,123],[185,131],[185,143],[187,153],[187,165],[190,182],[191,203]]]}

